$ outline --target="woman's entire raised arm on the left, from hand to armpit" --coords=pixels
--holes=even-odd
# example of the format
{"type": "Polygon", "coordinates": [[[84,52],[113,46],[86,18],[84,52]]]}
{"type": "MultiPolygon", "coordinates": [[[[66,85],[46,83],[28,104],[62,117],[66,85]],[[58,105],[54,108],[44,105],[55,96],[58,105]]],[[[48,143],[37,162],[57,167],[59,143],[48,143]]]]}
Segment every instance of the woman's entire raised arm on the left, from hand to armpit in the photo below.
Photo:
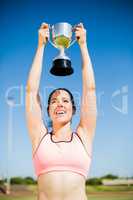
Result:
{"type": "Polygon", "coordinates": [[[43,134],[46,133],[42,119],[39,85],[42,72],[43,52],[49,37],[48,25],[42,24],[39,29],[38,48],[31,66],[26,85],[26,120],[32,142],[33,151],[43,134]]]}

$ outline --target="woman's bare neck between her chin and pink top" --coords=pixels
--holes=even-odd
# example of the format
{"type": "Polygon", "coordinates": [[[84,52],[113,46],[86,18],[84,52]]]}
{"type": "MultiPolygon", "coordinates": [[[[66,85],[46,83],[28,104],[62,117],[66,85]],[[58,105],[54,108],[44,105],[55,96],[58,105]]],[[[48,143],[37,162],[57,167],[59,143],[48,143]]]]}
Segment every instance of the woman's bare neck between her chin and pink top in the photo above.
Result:
{"type": "Polygon", "coordinates": [[[71,126],[70,126],[70,122],[68,122],[67,124],[53,124],[53,135],[55,135],[56,137],[60,137],[60,136],[70,136],[72,130],[71,130],[71,126]]]}

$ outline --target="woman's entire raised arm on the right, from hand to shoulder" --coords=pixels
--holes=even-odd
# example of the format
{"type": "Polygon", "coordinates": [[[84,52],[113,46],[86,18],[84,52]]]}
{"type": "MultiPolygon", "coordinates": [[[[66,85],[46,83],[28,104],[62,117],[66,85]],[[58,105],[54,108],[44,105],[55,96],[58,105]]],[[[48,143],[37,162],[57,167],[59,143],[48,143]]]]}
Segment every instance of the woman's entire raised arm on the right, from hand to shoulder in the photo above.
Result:
{"type": "Polygon", "coordinates": [[[77,132],[84,140],[88,138],[89,141],[92,141],[97,117],[96,86],[93,67],[87,48],[86,30],[83,24],[79,24],[76,28],[76,37],[82,56],[82,102],[80,123],[77,132]]]}

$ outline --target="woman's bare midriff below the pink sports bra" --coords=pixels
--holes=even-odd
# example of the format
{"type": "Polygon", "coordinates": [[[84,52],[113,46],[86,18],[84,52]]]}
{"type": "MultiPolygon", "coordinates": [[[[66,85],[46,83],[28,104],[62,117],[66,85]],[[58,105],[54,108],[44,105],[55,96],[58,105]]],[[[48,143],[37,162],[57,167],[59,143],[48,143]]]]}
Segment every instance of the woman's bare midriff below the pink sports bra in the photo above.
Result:
{"type": "Polygon", "coordinates": [[[70,171],[52,171],[38,177],[37,200],[87,200],[85,178],[70,171]]]}

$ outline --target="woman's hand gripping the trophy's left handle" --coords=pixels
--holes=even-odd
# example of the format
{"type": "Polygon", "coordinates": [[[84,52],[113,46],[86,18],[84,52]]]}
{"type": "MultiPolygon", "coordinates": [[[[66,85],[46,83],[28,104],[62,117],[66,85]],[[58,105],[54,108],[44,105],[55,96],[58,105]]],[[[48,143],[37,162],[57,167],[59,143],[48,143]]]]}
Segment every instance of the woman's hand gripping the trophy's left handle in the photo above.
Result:
{"type": "Polygon", "coordinates": [[[38,45],[39,47],[45,45],[49,39],[49,26],[46,23],[42,23],[38,31],[38,45]]]}

